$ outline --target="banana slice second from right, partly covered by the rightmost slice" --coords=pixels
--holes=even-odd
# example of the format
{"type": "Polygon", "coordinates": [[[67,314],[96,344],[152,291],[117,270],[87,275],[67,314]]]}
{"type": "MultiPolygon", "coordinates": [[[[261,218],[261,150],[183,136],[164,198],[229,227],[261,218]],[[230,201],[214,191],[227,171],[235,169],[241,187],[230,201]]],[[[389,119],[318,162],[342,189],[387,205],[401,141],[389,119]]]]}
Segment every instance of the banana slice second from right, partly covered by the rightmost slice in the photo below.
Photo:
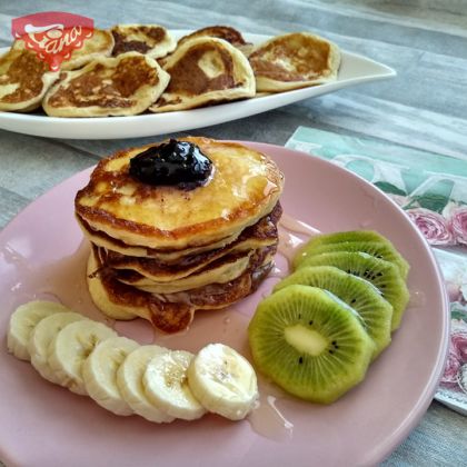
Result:
{"type": "Polygon", "coordinates": [[[149,361],[142,378],[148,399],[172,417],[183,420],[195,420],[206,414],[187,381],[187,369],[192,358],[193,355],[185,350],[158,355],[149,361]]]}

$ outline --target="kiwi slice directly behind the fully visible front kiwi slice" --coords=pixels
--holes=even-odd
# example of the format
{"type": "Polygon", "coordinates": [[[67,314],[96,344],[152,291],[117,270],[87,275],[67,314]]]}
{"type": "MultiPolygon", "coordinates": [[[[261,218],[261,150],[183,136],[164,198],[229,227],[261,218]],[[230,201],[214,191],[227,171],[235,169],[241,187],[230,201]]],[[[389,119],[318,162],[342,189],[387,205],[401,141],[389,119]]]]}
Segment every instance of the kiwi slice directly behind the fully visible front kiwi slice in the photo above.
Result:
{"type": "Polygon", "coordinates": [[[302,267],[277,284],[277,291],[292,284],[328,290],[354,308],[365,330],[375,342],[375,359],[390,342],[393,307],[368,280],[347,274],[332,266],[302,267]]]}

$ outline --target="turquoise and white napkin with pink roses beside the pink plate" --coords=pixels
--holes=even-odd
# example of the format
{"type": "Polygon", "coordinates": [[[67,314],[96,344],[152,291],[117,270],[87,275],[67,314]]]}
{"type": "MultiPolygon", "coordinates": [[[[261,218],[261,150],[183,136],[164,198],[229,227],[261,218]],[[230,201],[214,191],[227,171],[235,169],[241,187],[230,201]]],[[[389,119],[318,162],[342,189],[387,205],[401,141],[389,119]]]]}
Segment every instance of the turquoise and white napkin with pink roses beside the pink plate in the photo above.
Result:
{"type": "Polygon", "coordinates": [[[434,247],[449,294],[449,355],[435,398],[467,415],[467,163],[370,138],[299,127],[286,147],[358,173],[393,198],[434,247]]]}

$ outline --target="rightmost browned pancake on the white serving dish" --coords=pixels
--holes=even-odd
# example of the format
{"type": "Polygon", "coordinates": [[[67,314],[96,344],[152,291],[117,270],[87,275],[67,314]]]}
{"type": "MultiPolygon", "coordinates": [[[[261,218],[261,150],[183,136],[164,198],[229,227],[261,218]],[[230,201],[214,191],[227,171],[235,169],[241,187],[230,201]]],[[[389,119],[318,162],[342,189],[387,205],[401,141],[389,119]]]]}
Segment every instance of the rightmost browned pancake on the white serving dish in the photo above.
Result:
{"type": "Polygon", "coordinates": [[[334,81],[340,64],[339,48],[307,32],[277,36],[248,57],[258,92],[280,92],[334,81]]]}

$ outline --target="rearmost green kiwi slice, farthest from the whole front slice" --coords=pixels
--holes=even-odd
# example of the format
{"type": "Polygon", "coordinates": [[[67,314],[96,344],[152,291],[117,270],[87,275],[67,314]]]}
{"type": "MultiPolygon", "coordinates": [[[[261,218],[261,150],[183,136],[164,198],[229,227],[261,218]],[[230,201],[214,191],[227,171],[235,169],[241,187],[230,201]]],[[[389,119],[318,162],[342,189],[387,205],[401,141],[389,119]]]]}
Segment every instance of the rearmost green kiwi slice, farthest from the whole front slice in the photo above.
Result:
{"type": "Polygon", "coordinates": [[[314,237],[300,248],[294,258],[294,267],[297,268],[310,256],[331,251],[362,251],[378,259],[394,262],[399,268],[403,279],[407,278],[409,271],[408,262],[394,245],[386,237],[372,230],[352,230],[314,237]]]}

